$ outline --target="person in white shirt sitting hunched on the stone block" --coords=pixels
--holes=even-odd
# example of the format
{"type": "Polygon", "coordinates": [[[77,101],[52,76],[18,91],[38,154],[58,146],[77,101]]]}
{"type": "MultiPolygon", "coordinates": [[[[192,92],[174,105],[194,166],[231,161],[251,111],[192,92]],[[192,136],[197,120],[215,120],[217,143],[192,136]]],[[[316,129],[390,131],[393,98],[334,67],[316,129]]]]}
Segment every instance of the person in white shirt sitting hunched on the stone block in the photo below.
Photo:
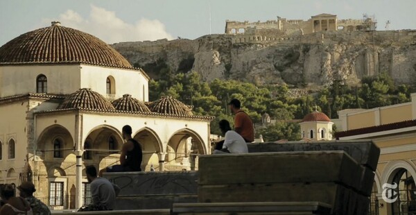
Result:
{"type": "Polygon", "coordinates": [[[214,150],[214,154],[220,153],[248,153],[247,144],[239,133],[235,132],[229,126],[225,119],[219,122],[220,130],[223,132],[224,144],[221,150],[214,150]]]}

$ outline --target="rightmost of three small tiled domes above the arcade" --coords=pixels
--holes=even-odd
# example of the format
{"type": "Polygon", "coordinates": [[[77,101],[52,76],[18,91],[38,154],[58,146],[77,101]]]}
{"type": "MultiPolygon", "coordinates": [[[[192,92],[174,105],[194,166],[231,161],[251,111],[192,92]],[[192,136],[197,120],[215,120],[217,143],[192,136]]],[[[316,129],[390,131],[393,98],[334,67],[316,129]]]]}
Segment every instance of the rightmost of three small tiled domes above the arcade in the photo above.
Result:
{"type": "Polygon", "coordinates": [[[191,109],[187,105],[175,98],[172,98],[172,96],[162,96],[159,100],[150,103],[149,109],[152,112],[158,112],[161,114],[193,116],[191,109]]]}

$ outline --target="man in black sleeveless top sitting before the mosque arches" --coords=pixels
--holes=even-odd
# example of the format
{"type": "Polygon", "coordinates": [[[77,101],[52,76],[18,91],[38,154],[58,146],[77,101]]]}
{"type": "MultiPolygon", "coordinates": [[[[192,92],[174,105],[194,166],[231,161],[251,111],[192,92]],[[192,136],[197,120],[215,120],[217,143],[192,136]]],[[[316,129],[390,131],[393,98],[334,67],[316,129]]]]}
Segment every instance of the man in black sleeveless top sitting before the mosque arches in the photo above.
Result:
{"type": "Polygon", "coordinates": [[[125,143],[121,148],[120,164],[101,169],[99,173],[100,177],[104,172],[141,171],[140,165],[143,159],[143,153],[139,142],[132,138],[132,127],[128,125],[124,126],[122,132],[125,143]]]}

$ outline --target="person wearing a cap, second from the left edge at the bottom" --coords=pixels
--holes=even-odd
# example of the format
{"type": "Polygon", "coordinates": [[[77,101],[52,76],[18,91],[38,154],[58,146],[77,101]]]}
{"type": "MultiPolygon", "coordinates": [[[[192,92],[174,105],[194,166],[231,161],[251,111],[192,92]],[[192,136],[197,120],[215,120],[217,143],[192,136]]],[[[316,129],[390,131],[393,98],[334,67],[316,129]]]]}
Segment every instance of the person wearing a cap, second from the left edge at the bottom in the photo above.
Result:
{"type": "Polygon", "coordinates": [[[49,207],[46,206],[44,203],[42,203],[41,200],[35,198],[33,196],[33,193],[36,191],[35,184],[32,182],[22,182],[19,187],[19,195],[22,198],[25,198],[28,203],[31,205],[33,214],[37,215],[50,215],[51,211],[49,210],[49,207]]]}

